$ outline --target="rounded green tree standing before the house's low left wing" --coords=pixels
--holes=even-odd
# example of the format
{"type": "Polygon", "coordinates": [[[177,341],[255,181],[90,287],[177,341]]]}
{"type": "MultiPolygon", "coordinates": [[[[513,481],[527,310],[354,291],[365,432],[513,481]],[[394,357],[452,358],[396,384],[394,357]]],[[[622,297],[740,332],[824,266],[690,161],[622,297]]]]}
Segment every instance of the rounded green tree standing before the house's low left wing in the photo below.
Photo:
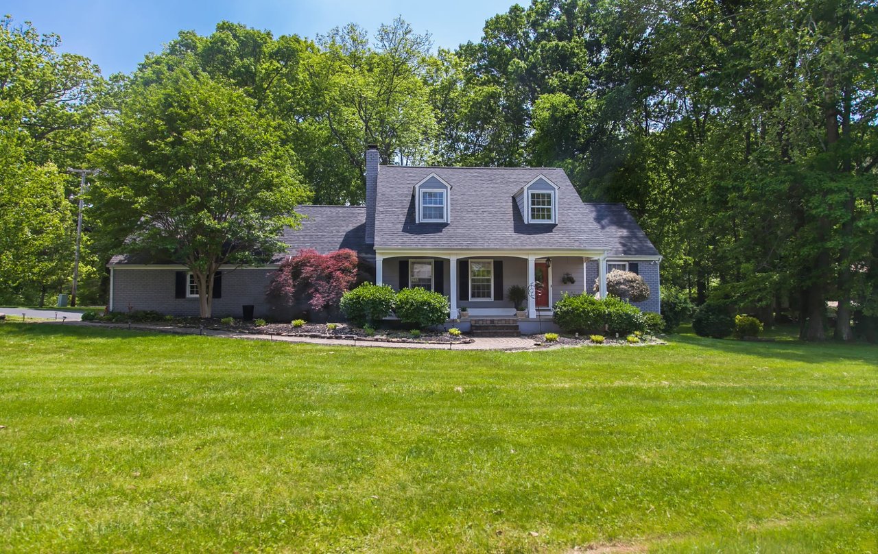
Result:
{"type": "Polygon", "coordinates": [[[307,199],[277,125],[255,100],[204,73],[175,68],[126,91],[96,155],[92,198],[126,249],[185,264],[210,317],[224,264],[265,262],[307,199]]]}

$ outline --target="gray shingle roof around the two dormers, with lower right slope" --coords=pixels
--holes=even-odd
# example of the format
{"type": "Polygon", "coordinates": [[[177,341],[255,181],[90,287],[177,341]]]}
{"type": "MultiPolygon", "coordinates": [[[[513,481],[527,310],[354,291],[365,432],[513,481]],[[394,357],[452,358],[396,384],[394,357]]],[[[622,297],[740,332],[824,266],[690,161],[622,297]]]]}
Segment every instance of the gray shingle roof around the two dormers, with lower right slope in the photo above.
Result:
{"type": "Polygon", "coordinates": [[[376,248],[582,248],[658,255],[621,204],[585,204],[563,169],[381,166],[376,248]],[[414,185],[435,173],[451,186],[450,222],[415,223],[414,185]],[[526,224],[513,195],[544,176],[558,185],[558,223],[526,224]]]}

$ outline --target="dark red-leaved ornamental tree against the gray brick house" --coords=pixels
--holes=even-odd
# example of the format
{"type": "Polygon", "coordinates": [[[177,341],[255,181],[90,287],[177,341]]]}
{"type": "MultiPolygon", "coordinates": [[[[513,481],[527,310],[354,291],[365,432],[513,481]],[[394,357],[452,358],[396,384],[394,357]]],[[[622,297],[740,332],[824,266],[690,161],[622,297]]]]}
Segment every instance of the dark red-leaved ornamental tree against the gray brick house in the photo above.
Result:
{"type": "Polygon", "coordinates": [[[290,305],[307,299],[317,311],[335,308],[356,282],[357,263],[356,252],[348,248],[329,254],[303,248],[280,264],[268,294],[290,305]]]}

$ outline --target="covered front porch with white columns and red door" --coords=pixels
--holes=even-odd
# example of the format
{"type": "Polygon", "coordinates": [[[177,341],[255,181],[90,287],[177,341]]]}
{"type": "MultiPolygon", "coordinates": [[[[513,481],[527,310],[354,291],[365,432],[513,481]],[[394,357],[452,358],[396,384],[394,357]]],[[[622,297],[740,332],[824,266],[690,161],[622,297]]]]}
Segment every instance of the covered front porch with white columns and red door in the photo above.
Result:
{"type": "Polygon", "coordinates": [[[587,263],[606,260],[601,250],[393,250],[376,249],[376,283],[394,290],[421,286],[449,298],[450,319],[461,318],[465,308],[471,320],[515,318],[509,287],[527,291],[524,321],[551,319],[551,307],[565,293],[592,292],[595,278],[606,294],[606,263],[596,263],[589,275],[587,263]]]}

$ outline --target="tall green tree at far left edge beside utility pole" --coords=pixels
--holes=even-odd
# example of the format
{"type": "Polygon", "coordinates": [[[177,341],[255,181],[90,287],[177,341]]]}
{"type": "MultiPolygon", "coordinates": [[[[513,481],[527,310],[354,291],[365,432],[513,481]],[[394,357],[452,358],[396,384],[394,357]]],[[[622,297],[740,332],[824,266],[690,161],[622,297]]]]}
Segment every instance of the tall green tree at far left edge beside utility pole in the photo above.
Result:
{"type": "MultiPolygon", "coordinates": [[[[75,219],[71,196],[101,113],[97,67],[61,54],[61,40],[0,20],[0,298],[38,301],[70,281],[75,219]]],[[[88,246],[90,237],[83,240],[88,246]]],[[[95,275],[83,251],[81,275],[95,275]]]]}

